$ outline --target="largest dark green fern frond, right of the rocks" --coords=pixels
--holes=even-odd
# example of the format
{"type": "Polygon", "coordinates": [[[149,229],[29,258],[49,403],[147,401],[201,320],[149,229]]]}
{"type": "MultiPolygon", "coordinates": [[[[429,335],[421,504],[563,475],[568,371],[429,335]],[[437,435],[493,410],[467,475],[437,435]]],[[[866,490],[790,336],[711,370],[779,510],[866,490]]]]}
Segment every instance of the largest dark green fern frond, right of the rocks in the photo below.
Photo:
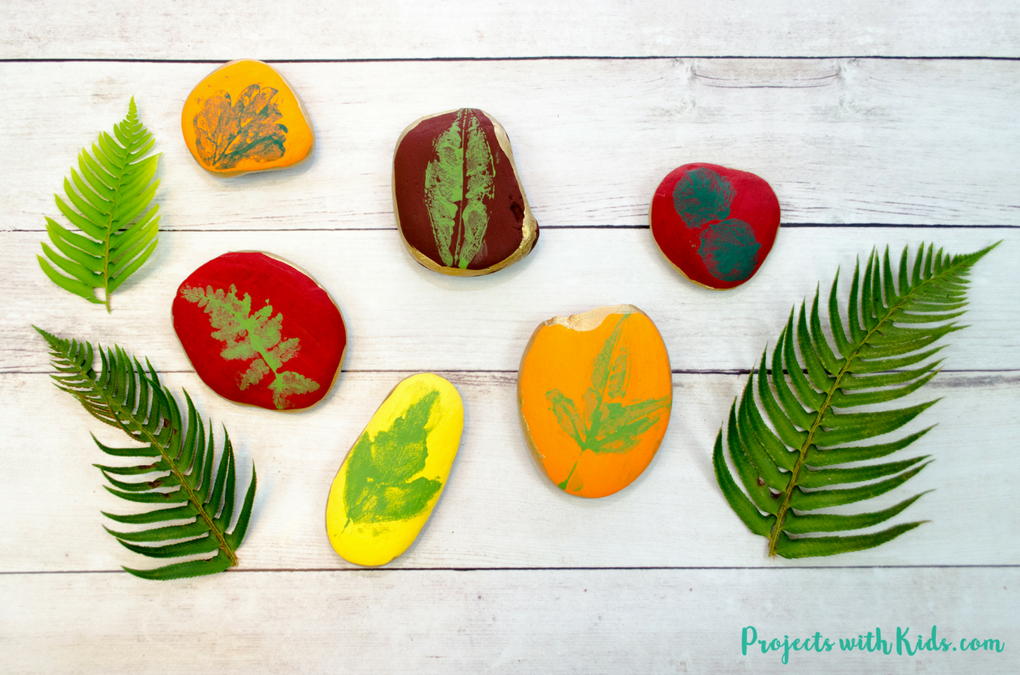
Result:
{"type": "Polygon", "coordinates": [[[721,429],[713,456],[726,501],[752,532],[768,538],[770,556],[806,558],[871,549],[921,524],[819,535],[883,523],[924,492],[871,513],[812,512],[883,495],[927,466],[927,456],[873,460],[907,448],[930,426],[883,443],[861,442],[896,431],[935,403],[873,408],[912,394],[936,374],[940,360],[931,359],[941,349],[936,343],[964,327],[953,319],[967,304],[967,274],[994,246],[950,256],[932,246],[925,251],[922,245],[912,270],[904,249],[897,274],[888,249],[884,256],[872,252],[863,275],[860,263],[854,269],[846,316],[836,301],[838,274],[832,282],[830,339],[822,329],[817,292],[810,313],[802,304],[795,321],[790,311],[772,352],[771,370],[763,353],[757,373],[752,371],[729,410],[725,446],[744,490],[726,465],[721,429]],[[861,406],[869,408],[855,412],[861,406]]]}

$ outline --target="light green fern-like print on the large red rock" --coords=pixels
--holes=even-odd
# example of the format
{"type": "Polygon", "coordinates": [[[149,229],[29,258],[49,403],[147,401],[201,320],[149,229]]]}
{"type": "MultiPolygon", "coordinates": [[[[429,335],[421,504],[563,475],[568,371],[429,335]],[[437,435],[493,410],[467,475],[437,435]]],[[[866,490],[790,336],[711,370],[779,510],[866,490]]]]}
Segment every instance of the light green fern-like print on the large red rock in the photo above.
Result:
{"type": "Polygon", "coordinates": [[[297,355],[301,342],[297,337],[284,340],[284,315],[272,316],[268,301],[265,307],[252,314],[251,296],[246,293],[239,299],[237,293],[233,284],[228,292],[213,290],[211,285],[181,290],[185,300],[196,303],[209,315],[209,323],[216,328],[212,336],[226,343],[219,353],[221,357],[228,361],[253,359],[248,370],[241,374],[238,386],[246,390],[261,382],[265,375],[274,374],[268,386],[277,410],[291,407],[288,397],[318,390],[315,380],[301,373],[280,370],[285,362],[297,355]]]}

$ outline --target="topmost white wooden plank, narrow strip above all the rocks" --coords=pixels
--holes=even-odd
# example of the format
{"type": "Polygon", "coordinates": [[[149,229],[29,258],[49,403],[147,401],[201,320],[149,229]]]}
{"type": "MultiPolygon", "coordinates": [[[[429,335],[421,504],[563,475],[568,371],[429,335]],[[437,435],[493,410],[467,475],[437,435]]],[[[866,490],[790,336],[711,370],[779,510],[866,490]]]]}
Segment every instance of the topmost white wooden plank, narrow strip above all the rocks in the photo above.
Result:
{"type": "Polygon", "coordinates": [[[961,0],[747,0],[359,6],[186,0],[8,3],[0,58],[266,59],[534,56],[1016,56],[1016,6],[961,0]]]}

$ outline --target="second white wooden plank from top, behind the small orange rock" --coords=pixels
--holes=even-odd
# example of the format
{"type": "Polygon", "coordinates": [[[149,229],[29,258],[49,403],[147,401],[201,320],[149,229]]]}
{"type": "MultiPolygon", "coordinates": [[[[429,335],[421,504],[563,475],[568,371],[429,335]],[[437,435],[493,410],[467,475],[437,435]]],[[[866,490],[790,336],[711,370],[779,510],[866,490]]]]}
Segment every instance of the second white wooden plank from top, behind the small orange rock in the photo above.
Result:
{"type": "Polygon", "coordinates": [[[213,67],[0,63],[0,228],[56,215],[68,166],[133,95],[175,229],[392,228],[397,138],[461,105],[508,129],[542,226],[647,224],[662,177],[705,160],[766,178],[787,223],[1020,225],[1020,61],[287,63],[318,135],[312,158],[233,179],[182,141],[184,100],[213,67]]]}

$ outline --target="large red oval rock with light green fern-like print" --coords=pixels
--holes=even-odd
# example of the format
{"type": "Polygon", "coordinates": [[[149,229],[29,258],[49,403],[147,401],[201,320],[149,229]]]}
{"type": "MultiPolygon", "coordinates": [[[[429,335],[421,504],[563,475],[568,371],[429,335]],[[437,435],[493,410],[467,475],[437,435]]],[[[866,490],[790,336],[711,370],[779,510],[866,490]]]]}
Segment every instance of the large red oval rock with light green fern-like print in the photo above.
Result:
{"type": "Polygon", "coordinates": [[[340,373],[347,330],[315,279],[265,253],[226,253],[185,279],[173,329],[213,392],[269,410],[303,410],[340,373]]]}

